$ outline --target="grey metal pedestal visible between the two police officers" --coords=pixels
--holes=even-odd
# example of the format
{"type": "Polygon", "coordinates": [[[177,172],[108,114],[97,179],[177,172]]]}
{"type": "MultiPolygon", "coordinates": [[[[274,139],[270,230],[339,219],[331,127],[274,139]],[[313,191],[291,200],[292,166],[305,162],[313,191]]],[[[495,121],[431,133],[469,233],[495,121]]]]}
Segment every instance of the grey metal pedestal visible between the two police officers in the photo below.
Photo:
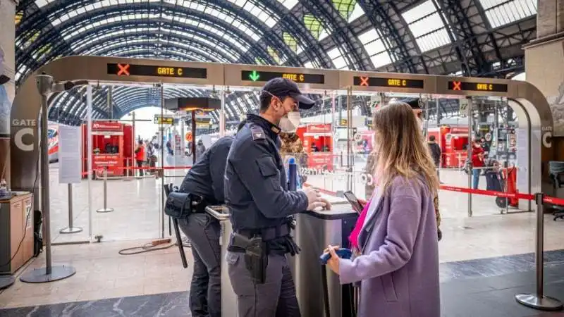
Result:
{"type": "Polygon", "coordinates": [[[233,228],[229,220],[229,209],[226,206],[207,206],[206,212],[219,220],[221,225],[219,245],[221,246],[221,317],[238,317],[237,297],[231,287],[231,280],[225,263],[229,238],[233,228]]]}

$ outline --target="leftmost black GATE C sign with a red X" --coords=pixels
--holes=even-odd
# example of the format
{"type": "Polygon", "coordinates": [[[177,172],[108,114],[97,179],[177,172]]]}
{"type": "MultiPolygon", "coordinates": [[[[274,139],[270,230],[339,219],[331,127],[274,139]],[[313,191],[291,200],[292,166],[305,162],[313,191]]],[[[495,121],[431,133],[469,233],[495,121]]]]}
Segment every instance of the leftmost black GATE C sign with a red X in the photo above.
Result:
{"type": "Polygon", "coordinates": [[[207,79],[207,68],[109,63],[108,74],[118,76],[157,76],[207,79]]]}

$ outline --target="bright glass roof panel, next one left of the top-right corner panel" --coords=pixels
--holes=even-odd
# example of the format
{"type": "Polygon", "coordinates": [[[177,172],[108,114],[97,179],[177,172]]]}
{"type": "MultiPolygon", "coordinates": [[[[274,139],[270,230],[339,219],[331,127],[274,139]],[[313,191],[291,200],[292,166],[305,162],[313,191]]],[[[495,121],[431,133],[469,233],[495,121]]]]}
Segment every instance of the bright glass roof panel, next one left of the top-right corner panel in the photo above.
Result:
{"type": "Polygon", "coordinates": [[[422,52],[450,43],[448,31],[433,1],[427,0],[402,13],[422,52]]]}

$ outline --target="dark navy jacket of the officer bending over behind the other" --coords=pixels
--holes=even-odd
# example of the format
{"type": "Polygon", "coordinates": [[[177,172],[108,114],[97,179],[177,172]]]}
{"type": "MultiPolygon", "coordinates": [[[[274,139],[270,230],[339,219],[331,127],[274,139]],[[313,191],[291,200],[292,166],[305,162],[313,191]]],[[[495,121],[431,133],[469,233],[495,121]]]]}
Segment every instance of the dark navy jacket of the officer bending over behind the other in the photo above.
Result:
{"type": "Polygon", "coordinates": [[[233,139],[234,137],[222,137],[212,144],[204,152],[202,159],[190,168],[179,191],[200,195],[207,204],[223,204],[223,172],[233,139]]]}

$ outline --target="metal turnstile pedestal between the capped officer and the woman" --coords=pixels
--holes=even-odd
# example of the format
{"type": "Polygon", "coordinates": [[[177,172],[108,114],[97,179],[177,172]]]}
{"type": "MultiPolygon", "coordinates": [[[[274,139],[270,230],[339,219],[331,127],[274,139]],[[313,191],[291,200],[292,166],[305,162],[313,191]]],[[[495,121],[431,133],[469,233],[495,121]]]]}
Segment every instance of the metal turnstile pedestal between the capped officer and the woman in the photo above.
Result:
{"type": "MultiPolygon", "coordinates": [[[[323,286],[319,256],[331,244],[348,247],[348,235],[358,214],[347,201],[331,201],[331,211],[305,211],[296,215],[295,242],[302,249],[290,259],[296,294],[302,316],[328,317],[324,312],[323,286]]],[[[338,275],[326,271],[331,317],[351,317],[350,285],[341,285],[338,275]]]]}

